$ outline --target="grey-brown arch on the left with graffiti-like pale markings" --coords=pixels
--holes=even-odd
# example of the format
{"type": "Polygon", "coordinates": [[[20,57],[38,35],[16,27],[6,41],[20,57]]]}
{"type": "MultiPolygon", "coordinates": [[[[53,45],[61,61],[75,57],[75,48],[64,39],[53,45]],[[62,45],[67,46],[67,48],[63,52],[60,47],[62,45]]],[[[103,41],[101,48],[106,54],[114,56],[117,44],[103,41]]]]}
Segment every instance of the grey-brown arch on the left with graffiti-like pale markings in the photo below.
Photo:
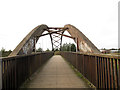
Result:
{"type": "Polygon", "coordinates": [[[31,54],[32,51],[35,50],[35,44],[38,41],[39,37],[42,33],[48,29],[47,25],[39,25],[35,27],[12,51],[9,56],[23,55],[23,54],[31,54]]]}

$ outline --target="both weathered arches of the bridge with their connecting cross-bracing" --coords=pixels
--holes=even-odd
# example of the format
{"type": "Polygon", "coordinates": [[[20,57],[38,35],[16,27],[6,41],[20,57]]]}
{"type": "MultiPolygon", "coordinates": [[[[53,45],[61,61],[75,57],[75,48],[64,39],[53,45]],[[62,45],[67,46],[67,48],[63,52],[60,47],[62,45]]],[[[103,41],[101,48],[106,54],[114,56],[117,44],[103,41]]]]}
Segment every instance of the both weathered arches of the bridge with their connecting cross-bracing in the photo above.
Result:
{"type": "MultiPolygon", "coordinates": [[[[97,47],[76,27],[68,24],[65,25],[63,28],[54,28],[58,29],[59,31],[51,31],[49,30],[47,25],[39,25],[35,27],[20,43],[19,45],[13,50],[13,52],[9,56],[16,56],[16,55],[23,55],[23,54],[31,54],[33,51],[35,51],[35,44],[42,35],[44,31],[48,31],[45,35],[50,35],[51,38],[51,44],[53,48],[53,40],[51,37],[51,34],[56,33],[61,35],[61,43],[62,43],[62,36],[64,35],[63,32],[65,30],[68,31],[68,33],[71,36],[67,36],[70,38],[73,38],[75,43],[78,45],[78,51],[80,52],[87,52],[87,53],[100,53],[100,51],[97,49],[97,47]],[[62,32],[61,32],[62,31],[62,32]]],[[[52,28],[53,29],[53,28],[52,28]]],[[[60,44],[61,44],[60,43],[60,44]]]]}

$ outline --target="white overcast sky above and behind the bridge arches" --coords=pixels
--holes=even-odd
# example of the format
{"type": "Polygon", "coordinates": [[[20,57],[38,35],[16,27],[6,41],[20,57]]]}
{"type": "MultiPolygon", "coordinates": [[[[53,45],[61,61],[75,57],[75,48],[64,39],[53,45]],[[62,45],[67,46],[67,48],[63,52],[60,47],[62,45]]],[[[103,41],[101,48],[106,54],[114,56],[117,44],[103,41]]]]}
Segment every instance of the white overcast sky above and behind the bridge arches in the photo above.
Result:
{"type": "MultiPolygon", "coordinates": [[[[0,49],[13,50],[40,24],[50,27],[72,24],[99,49],[118,48],[118,1],[0,0],[0,49]]],[[[40,41],[42,47],[50,47],[47,38],[40,41]]]]}

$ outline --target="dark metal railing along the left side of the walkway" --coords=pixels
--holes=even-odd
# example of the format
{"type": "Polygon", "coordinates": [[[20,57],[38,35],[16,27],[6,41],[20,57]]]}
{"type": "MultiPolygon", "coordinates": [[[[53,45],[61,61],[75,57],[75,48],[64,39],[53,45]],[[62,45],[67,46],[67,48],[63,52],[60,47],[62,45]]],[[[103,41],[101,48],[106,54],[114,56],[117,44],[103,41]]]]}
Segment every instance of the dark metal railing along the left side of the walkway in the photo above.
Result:
{"type": "Polygon", "coordinates": [[[54,52],[1,58],[0,89],[19,88],[54,52]]]}

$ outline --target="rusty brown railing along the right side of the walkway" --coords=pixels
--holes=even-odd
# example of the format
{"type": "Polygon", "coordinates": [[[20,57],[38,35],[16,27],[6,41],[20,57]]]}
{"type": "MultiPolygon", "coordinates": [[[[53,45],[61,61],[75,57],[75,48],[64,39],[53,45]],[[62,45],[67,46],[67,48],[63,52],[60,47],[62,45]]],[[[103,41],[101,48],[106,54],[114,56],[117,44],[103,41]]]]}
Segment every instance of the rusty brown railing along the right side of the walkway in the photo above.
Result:
{"type": "Polygon", "coordinates": [[[73,52],[61,55],[96,88],[120,88],[120,57],[73,52]]]}

